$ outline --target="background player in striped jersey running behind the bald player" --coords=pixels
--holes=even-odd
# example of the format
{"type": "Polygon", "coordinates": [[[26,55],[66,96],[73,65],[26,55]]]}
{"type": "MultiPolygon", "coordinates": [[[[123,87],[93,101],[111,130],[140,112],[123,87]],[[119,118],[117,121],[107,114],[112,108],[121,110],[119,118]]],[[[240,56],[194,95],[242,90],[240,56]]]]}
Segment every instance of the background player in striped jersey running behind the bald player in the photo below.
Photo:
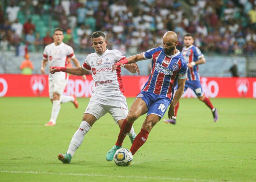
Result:
{"type": "MultiPolygon", "coordinates": [[[[184,36],[184,44],[185,46],[182,49],[182,55],[185,57],[188,63],[188,77],[185,84],[185,90],[187,88],[191,88],[194,93],[196,94],[197,98],[200,101],[203,101],[212,111],[214,122],[218,121],[218,111],[215,107],[213,107],[211,101],[205,97],[204,92],[202,90],[202,86],[200,83],[200,76],[199,76],[199,64],[204,64],[205,58],[204,55],[201,53],[200,49],[193,45],[194,39],[192,34],[186,34],[184,36]]],[[[177,111],[179,108],[179,102],[175,107],[175,117],[172,119],[164,119],[165,123],[176,123],[177,111]]]]}

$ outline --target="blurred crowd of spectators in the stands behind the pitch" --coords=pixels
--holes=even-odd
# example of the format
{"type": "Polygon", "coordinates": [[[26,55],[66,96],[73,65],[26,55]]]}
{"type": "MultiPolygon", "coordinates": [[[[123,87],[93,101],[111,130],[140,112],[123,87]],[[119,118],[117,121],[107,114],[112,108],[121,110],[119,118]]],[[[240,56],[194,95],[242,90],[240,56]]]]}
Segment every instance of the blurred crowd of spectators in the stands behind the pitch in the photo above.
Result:
{"type": "Polygon", "coordinates": [[[11,0],[7,3],[0,6],[0,47],[17,54],[24,45],[28,51],[42,51],[53,41],[56,26],[65,30],[64,42],[80,52],[93,51],[90,35],[97,30],[106,34],[109,49],[119,49],[124,54],[162,46],[162,36],[168,30],[177,33],[180,50],[187,32],[194,35],[195,45],[205,54],[252,56],[256,48],[256,0],[11,0]],[[26,18],[24,23],[18,19],[21,12],[26,18]],[[33,16],[40,19],[32,22],[33,16]],[[38,28],[41,18],[46,20],[46,27],[38,28]]]}

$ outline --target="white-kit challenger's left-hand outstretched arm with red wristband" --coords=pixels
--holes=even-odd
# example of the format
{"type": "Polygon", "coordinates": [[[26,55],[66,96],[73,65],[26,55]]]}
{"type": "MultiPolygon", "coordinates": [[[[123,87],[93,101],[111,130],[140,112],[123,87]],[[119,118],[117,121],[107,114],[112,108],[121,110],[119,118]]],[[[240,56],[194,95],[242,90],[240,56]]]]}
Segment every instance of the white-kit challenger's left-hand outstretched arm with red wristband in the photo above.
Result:
{"type": "Polygon", "coordinates": [[[69,74],[72,74],[72,75],[76,75],[76,76],[82,76],[82,75],[85,75],[86,73],[88,73],[88,71],[84,70],[81,66],[80,67],[75,67],[75,68],[53,66],[49,70],[49,72],[51,74],[54,74],[54,73],[60,72],[60,71],[65,72],[65,73],[69,73],[69,74]]]}

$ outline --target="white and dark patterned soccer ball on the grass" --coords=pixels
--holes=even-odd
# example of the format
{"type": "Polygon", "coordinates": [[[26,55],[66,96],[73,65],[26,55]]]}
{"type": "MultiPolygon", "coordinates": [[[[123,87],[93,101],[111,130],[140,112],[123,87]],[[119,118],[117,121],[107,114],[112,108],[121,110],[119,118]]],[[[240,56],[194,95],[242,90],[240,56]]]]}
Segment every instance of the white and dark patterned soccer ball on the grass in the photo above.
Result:
{"type": "Polygon", "coordinates": [[[132,163],[132,153],[126,148],[120,148],[114,155],[114,162],[118,166],[128,166],[132,163]]]}

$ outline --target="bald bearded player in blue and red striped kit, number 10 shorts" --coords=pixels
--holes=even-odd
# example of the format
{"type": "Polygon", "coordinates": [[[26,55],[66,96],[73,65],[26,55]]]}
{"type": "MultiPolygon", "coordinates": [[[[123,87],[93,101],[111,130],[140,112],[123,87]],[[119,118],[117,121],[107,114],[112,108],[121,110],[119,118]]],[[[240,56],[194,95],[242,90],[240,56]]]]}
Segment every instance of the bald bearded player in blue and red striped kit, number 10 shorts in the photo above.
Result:
{"type": "Polygon", "coordinates": [[[168,117],[172,118],[175,115],[174,108],[183,94],[188,69],[185,58],[176,49],[177,44],[177,34],[169,31],[163,36],[163,47],[150,49],[113,65],[112,71],[124,64],[152,58],[152,71],[148,82],[133,102],[121,126],[115,146],[107,153],[106,159],[108,161],[111,161],[115,152],[122,147],[125,136],[138,117],[147,113],[141,131],[131,146],[130,151],[133,155],[146,142],[149,132],[163,117],[169,105],[168,117]],[[173,96],[177,83],[178,89],[173,96]]]}

